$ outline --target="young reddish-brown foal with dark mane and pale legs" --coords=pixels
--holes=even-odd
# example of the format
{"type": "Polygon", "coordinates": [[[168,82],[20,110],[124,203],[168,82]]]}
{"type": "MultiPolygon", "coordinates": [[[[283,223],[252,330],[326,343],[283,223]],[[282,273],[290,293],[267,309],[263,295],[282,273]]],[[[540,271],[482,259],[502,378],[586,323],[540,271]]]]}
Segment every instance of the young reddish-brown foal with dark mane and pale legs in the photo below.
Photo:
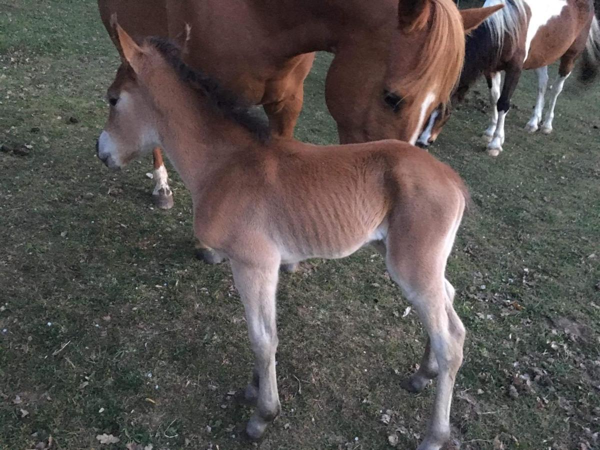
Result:
{"type": "MultiPolygon", "coordinates": [[[[421,450],[450,434],[452,390],[465,329],[455,313],[446,261],[467,204],[460,176],[426,151],[396,140],[315,146],[272,136],[179,47],[151,38],[139,47],[119,26],[127,62],[110,86],[98,139],[109,167],[160,146],[190,190],[194,232],[230,260],[255,359],[245,398],[256,405],[247,434],[259,439],[280,412],[275,374],[275,291],[281,263],[336,259],[374,243],[428,332],[407,388],[437,376],[421,450]]],[[[202,48],[197,49],[202,52],[202,48]]],[[[297,343],[296,343],[297,344],[297,343]]]]}

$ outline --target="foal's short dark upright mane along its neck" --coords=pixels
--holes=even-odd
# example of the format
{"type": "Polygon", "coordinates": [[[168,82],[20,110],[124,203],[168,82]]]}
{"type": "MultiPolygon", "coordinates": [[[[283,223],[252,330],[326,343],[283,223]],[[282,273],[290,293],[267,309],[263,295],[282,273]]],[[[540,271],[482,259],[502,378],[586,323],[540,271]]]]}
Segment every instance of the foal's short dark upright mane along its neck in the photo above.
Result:
{"type": "Polygon", "coordinates": [[[193,70],[185,64],[181,59],[181,49],[172,41],[160,37],[152,37],[149,38],[148,42],[175,69],[183,82],[188,83],[194,91],[208,98],[215,112],[241,125],[253,133],[260,142],[268,142],[271,137],[268,122],[258,116],[247,102],[242,101],[233,92],[223,88],[217,80],[201,71],[193,70]]]}

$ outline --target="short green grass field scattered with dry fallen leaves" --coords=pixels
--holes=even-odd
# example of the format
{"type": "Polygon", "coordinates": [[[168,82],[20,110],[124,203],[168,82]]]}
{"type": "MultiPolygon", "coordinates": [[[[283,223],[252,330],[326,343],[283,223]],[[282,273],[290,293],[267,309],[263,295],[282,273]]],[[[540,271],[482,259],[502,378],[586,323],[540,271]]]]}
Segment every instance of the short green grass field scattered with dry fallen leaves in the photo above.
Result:
{"type": "MultiPolygon", "coordinates": [[[[337,141],[329,61],[307,80],[301,140],[337,141]]],[[[0,0],[0,144],[28,146],[0,152],[0,448],[111,448],[104,433],[112,448],[251,448],[233,392],[252,355],[229,267],[194,259],[174,170],[164,212],[150,161],[111,172],[95,157],[117,65],[95,2],[0,0]]],[[[431,149],[475,200],[448,268],[468,330],[448,449],[600,448],[600,80],[574,78],[551,136],[523,129],[528,73],[499,158],[479,137],[484,83],[431,149]]],[[[282,275],[283,412],[260,448],[419,442],[434,390],[399,385],[424,333],[375,253],[282,275]]]]}

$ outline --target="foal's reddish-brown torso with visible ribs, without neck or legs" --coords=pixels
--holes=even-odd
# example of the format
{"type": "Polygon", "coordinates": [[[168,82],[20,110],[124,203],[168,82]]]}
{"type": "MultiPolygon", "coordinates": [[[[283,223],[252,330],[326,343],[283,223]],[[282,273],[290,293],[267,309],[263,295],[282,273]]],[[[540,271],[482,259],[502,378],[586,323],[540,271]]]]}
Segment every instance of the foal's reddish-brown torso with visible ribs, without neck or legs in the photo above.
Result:
{"type": "Polygon", "coordinates": [[[275,139],[224,161],[196,229],[207,244],[221,236],[215,247],[226,248],[236,236],[224,227],[250,223],[292,259],[336,258],[385,239],[398,208],[436,221],[465,194],[450,167],[404,142],[323,147],[275,139]]]}

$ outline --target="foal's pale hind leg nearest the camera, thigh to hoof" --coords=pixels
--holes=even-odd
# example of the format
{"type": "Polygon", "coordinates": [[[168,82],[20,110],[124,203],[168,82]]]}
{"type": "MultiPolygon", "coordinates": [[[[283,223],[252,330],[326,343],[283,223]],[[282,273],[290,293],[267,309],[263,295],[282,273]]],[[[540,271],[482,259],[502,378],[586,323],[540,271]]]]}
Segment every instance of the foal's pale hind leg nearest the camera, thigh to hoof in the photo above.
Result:
{"type": "Polygon", "coordinates": [[[439,450],[450,436],[452,391],[463,362],[465,329],[452,307],[454,289],[443,275],[458,223],[454,233],[451,226],[441,225],[437,231],[430,227],[421,236],[407,236],[404,230],[412,229],[411,225],[396,224],[389,231],[387,265],[391,277],[415,305],[429,335],[424,357],[428,373],[422,375],[427,378],[437,372],[436,399],[418,450],[439,450]]]}

